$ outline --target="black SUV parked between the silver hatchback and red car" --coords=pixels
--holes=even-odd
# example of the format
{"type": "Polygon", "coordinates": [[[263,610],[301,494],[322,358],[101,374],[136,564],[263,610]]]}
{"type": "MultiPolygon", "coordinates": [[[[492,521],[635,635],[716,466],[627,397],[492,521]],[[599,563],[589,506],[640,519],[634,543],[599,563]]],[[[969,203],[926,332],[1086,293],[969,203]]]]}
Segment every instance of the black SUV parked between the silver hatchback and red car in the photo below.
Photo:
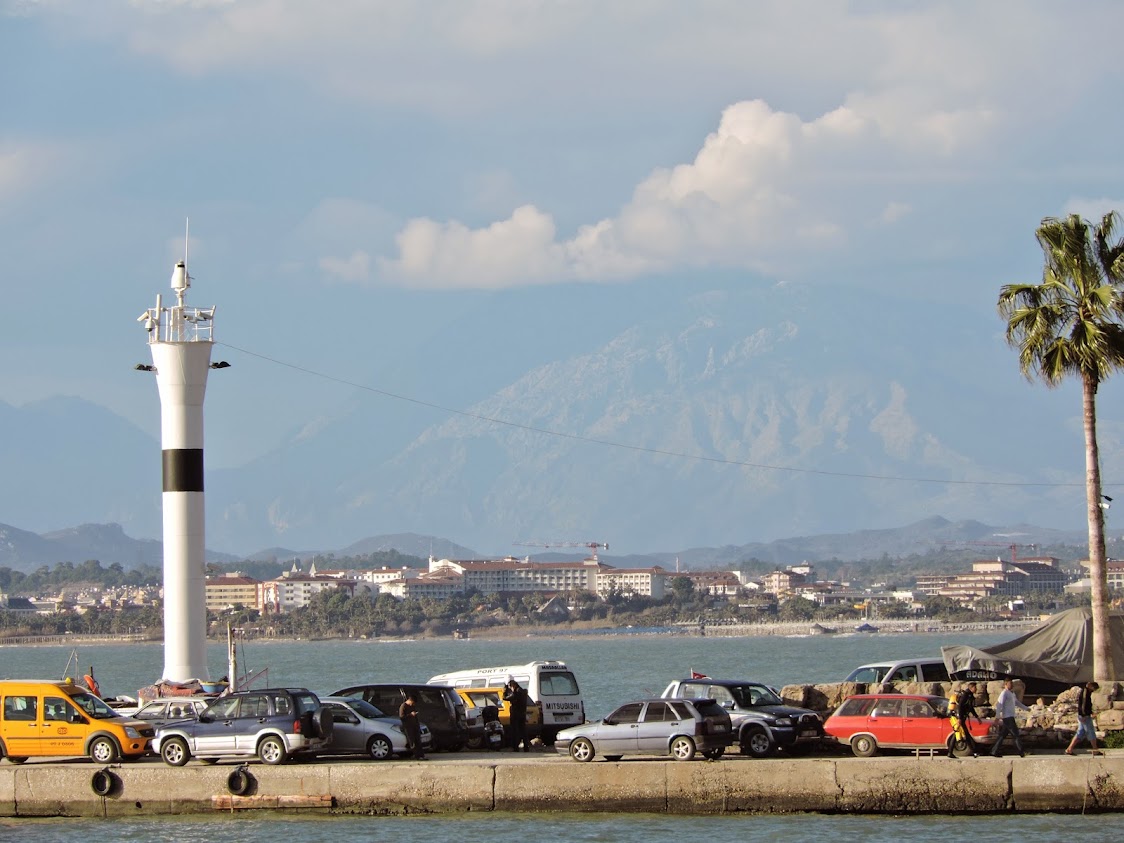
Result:
{"type": "Polygon", "coordinates": [[[679,679],[663,689],[663,698],[708,697],[729,711],[738,751],[767,758],[778,749],[798,754],[819,745],[824,722],[808,708],[785,705],[772,688],[744,679],[679,679]]]}

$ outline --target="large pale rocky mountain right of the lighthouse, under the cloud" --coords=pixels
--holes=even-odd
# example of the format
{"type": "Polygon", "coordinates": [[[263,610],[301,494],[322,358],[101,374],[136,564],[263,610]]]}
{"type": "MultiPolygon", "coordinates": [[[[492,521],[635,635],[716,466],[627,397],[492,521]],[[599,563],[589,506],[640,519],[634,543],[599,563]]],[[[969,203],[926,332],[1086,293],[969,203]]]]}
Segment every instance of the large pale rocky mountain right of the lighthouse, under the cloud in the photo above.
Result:
{"type": "MultiPolygon", "coordinates": [[[[529,368],[390,456],[365,445],[339,455],[339,443],[363,441],[347,432],[381,429],[380,411],[357,405],[245,472],[236,498],[224,483],[209,535],[408,529],[490,552],[604,540],[644,553],[933,513],[1079,528],[1079,398],[1024,384],[1000,327],[989,312],[934,306],[917,318],[844,291],[687,297],[529,368]],[[311,482],[280,482],[275,471],[300,469],[305,450],[323,454],[329,441],[336,456],[309,470],[311,482]],[[1058,482],[1072,487],[1048,486],[1058,482]]],[[[1105,473],[1120,475],[1102,395],[1105,473]]]]}

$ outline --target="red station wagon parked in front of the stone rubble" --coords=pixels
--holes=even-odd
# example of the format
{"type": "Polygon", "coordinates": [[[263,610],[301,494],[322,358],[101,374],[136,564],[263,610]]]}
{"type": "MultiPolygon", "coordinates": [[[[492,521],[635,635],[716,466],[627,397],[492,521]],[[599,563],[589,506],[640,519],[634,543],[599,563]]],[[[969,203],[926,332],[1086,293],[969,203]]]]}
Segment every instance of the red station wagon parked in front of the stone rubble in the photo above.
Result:
{"type": "MultiPolygon", "coordinates": [[[[968,726],[979,744],[995,741],[995,720],[968,726]]],[[[860,694],[847,697],[824,723],[824,740],[851,745],[859,758],[870,758],[880,747],[946,751],[952,741],[949,700],[913,694],[860,694]]],[[[958,752],[967,751],[962,743],[958,752]]]]}

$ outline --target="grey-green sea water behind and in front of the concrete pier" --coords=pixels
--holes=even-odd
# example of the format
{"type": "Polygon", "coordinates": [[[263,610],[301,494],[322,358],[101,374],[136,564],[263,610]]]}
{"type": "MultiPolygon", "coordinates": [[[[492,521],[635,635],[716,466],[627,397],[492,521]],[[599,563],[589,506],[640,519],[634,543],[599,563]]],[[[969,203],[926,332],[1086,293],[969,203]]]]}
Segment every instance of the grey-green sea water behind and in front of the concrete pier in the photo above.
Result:
{"type": "MultiPolygon", "coordinates": [[[[713,677],[736,677],[772,686],[840,681],[861,663],[939,656],[942,644],[987,646],[1023,631],[990,633],[877,633],[806,637],[754,636],[701,638],[676,634],[616,633],[573,637],[514,640],[317,641],[251,642],[239,647],[243,670],[269,670],[269,685],[302,686],[329,694],[347,685],[377,680],[424,681],[436,673],[462,668],[520,664],[541,659],[565,661],[578,676],[590,718],[608,714],[635,697],[659,695],[669,680],[689,671],[713,677]]],[[[70,647],[0,647],[0,677],[60,676],[74,651],[70,647]]],[[[76,650],[79,673],[93,667],[103,694],[134,695],[163,670],[160,644],[89,645],[76,650]]],[[[211,678],[224,676],[226,646],[208,649],[211,678]]],[[[672,762],[669,762],[672,763],[672,762]]],[[[652,843],[662,840],[734,840],[746,834],[791,841],[823,841],[846,835],[865,843],[930,840],[948,835],[1054,843],[1058,840],[1108,839],[1109,817],[877,817],[877,816],[738,816],[668,817],[650,815],[510,815],[473,814],[454,817],[263,817],[115,819],[112,837],[154,843],[174,835],[206,840],[220,835],[224,843],[259,840],[301,840],[337,843],[339,840],[389,840],[417,836],[456,840],[457,843],[495,843],[545,835],[560,841],[619,841],[652,843]]],[[[103,835],[98,821],[3,821],[0,840],[21,843],[70,841],[75,835],[103,835]]]]}

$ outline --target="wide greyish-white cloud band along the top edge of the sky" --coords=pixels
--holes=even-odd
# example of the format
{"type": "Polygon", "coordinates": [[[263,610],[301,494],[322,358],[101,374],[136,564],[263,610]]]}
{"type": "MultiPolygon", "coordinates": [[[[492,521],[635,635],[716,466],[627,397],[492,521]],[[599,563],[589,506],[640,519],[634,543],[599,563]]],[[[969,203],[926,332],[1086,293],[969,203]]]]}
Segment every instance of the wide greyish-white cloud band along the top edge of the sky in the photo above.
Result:
{"type": "Polygon", "coordinates": [[[835,102],[892,92],[883,130],[916,109],[943,115],[928,132],[953,142],[962,110],[987,109],[1015,90],[1033,91],[1026,108],[1048,92],[1069,93],[1059,66],[1080,66],[1087,79],[1112,72],[1124,11],[1113,0],[1086,0],[1080,16],[1022,0],[133,0],[108,9],[51,0],[43,8],[79,37],[127,44],[184,74],[297,79],[361,102],[463,115],[708,93],[729,102],[769,90],[798,110],[825,92],[835,102]]]}

